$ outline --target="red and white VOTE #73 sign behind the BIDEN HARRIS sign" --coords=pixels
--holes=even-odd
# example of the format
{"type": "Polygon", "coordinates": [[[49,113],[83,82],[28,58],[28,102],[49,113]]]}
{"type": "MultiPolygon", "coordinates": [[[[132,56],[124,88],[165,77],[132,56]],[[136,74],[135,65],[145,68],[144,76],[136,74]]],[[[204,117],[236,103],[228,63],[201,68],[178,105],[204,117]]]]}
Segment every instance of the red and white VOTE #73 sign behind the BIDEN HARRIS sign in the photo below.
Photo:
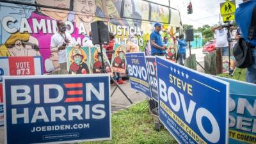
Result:
{"type": "Polygon", "coordinates": [[[2,77],[42,74],[42,58],[40,56],[0,57],[0,127],[4,125],[2,77]]]}

